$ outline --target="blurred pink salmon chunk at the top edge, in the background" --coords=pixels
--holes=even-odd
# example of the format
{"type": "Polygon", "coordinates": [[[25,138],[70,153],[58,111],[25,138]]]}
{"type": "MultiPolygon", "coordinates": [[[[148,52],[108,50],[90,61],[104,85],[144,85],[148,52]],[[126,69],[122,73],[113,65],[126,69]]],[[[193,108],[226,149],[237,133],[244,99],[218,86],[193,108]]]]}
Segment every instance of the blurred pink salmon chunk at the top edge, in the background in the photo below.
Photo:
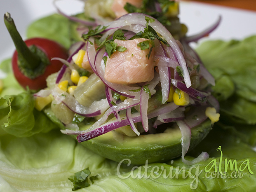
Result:
{"type": "Polygon", "coordinates": [[[142,5],[142,0],[114,0],[111,9],[117,18],[127,14],[127,11],[124,9],[124,5],[127,2],[136,7],[141,7],[142,5]]]}

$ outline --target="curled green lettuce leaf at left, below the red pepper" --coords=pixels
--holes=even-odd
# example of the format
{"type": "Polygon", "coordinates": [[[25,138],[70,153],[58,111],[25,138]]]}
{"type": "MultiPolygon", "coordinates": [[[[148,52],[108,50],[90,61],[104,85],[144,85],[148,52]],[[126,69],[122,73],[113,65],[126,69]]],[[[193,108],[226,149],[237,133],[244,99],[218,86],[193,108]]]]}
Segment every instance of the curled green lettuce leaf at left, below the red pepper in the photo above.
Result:
{"type": "Polygon", "coordinates": [[[17,137],[28,137],[57,128],[43,112],[34,107],[35,100],[29,92],[0,97],[2,129],[17,137]]]}

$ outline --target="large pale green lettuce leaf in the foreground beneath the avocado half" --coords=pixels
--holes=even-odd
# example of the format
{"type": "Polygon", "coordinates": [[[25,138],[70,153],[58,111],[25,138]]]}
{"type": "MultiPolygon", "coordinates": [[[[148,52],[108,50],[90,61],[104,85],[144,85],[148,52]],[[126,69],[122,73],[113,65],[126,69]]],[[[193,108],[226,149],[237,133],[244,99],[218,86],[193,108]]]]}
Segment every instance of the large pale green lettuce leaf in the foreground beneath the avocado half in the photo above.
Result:
{"type": "MultiPolygon", "coordinates": [[[[218,133],[213,132],[211,134],[212,138],[216,138],[218,133]]],[[[233,139],[231,135],[225,134],[223,136],[226,136],[228,141],[233,139]]],[[[218,138],[216,139],[218,141],[218,138]]],[[[243,151],[244,156],[240,155],[242,159],[237,159],[237,165],[239,167],[242,162],[248,159],[251,172],[244,169],[241,171],[241,176],[244,174],[241,178],[238,176],[237,178],[221,178],[221,176],[217,178],[213,170],[209,170],[209,172],[204,170],[207,164],[214,159],[217,162],[216,169],[219,169],[218,162],[221,157],[220,151],[216,151],[216,148],[214,149],[215,157],[193,166],[186,166],[178,158],[166,163],[145,164],[136,167],[134,165],[127,166],[128,161],[124,161],[120,166],[117,162],[96,155],[58,130],[38,133],[27,138],[16,138],[12,135],[0,136],[0,141],[1,191],[70,192],[73,183],[68,178],[87,167],[89,167],[92,175],[98,175],[99,179],[94,180],[94,184],[89,187],[78,190],[81,192],[120,190],[124,192],[138,190],[163,192],[192,192],[195,190],[199,192],[228,192],[239,190],[249,192],[254,191],[256,187],[256,175],[251,174],[251,172],[256,173],[256,152],[249,150],[248,145],[244,143],[235,145],[230,153],[228,151],[230,151],[232,142],[230,145],[222,146],[222,171],[225,167],[225,158],[234,161],[235,158],[229,156],[232,153],[239,154],[240,151],[243,151]],[[248,154],[250,156],[247,156],[248,154]],[[245,157],[246,159],[244,159],[245,157]],[[166,172],[164,173],[163,170],[166,170],[166,172]],[[144,177],[142,177],[143,175],[144,177]],[[145,176],[148,176],[148,178],[145,176]],[[208,176],[208,178],[205,176],[208,176]]],[[[214,139],[211,139],[211,142],[209,142],[209,139],[206,141],[208,144],[212,144],[212,142],[215,145],[218,144],[214,139]]],[[[209,153],[214,154],[214,152],[209,153]]],[[[193,159],[193,157],[190,157],[190,159],[193,159]]],[[[234,176],[235,173],[232,173],[234,169],[231,170],[228,166],[227,170],[228,176],[234,176]]]]}

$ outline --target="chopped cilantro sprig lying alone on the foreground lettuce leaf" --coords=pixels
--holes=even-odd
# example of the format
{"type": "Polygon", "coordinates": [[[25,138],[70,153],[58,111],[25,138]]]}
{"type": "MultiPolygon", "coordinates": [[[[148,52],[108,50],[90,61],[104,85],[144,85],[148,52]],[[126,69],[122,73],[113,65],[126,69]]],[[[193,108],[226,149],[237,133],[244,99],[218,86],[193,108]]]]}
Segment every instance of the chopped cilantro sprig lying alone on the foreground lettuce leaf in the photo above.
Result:
{"type": "Polygon", "coordinates": [[[74,188],[72,188],[72,191],[89,187],[90,184],[88,183],[88,178],[91,180],[92,184],[94,183],[93,180],[98,179],[98,175],[91,177],[89,177],[89,175],[91,175],[91,171],[89,170],[89,168],[86,168],[82,171],[75,173],[75,175],[70,176],[68,180],[70,180],[73,183],[74,188]]]}

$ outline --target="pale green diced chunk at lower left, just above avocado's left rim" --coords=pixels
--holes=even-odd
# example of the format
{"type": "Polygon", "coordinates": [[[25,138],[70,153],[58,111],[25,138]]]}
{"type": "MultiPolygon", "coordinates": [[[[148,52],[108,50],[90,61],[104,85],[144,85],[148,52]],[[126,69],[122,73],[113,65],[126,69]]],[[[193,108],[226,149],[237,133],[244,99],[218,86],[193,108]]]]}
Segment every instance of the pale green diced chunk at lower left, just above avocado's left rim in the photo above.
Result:
{"type": "Polygon", "coordinates": [[[69,124],[72,122],[75,113],[71,111],[65,104],[57,104],[56,101],[52,101],[52,112],[54,115],[64,124],[69,124]]]}

